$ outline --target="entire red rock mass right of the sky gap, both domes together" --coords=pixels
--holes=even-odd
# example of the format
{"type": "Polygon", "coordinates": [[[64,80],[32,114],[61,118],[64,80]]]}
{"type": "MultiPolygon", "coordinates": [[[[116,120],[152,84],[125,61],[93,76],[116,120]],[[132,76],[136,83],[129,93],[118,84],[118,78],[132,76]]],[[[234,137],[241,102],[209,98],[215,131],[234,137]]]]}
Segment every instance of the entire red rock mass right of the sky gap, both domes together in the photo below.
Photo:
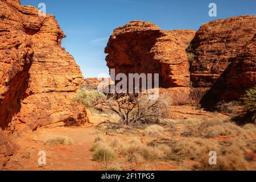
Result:
{"type": "Polygon", "coordinates": [[[106,62],[115,74],[159,73],[171,105],[214,106],[255,85],[255,34],[256,16],[214,20],[196,34],[133,21],[110,36],[106,62]]]}

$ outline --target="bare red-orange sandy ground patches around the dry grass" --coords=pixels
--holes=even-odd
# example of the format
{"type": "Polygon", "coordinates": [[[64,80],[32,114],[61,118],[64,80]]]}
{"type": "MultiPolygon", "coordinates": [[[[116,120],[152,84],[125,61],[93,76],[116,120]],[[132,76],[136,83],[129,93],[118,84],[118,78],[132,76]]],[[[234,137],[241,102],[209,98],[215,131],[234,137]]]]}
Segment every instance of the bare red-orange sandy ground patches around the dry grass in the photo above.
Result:
{"type": "MultiPolygon", "coordinates": [[[[172,106],[170,107],[170,118],[220,118],[228,117],[220,113],[209,113],[199,110],[191,106],[172,106]]],[[[116,159],[109,164],[98,163],[92,160],[92,151],[90,148],[97,137],[99,131],[96,125],[103,121],[104,118],[94,118],[93,123],[87,123],[85,126],[64,127],[63,123],[42,127],[37,131],[30,131],[22,134],[20,137],[14,138],[14,142],[20,146],[18,152],[12,156],[4,170],[102,170],[106,166],[120,166],[123,170],[182,170],[189,169],[193,166],[193,162],[184,161],[183,163],[174,161],[155,161],[155,162],[127,162],[123,156],[117,156],[116,159]],[[44,146],[43,140],[49,136],[67,136],[73,140],[71,146],[44,146]],[[46,165],[38,164],[38,152],[46,151],[46,165]]],[[[179,140],[184,126],[177,124],[175,130],[166,132],[162,139],[179,140]]],[[[120,137],[129,139],[131,136],[124,134],[106,135],[107,139],[120,137]]],[[[134,136],[132,136],[134,137],[134,136]]],[[[152,138],[143,137],[142,131],[138,130],[135,136],[139,140],[149,142],[152,138]]],[[[216,140],[230,140],[228,137],[218,137],[216,140]]],[[[250,155],[250,154],[249,154],[250,155]]]]}

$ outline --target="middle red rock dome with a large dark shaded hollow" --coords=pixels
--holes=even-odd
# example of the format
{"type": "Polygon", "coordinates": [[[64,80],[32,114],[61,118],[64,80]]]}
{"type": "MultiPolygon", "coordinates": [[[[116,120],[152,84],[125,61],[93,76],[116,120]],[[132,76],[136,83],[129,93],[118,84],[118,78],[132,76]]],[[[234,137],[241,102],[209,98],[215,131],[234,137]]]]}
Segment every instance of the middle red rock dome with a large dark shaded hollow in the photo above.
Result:
{"type": "Polygon", "coordinates": [[[118,73],[159,73],[163,88],[190,84],[185,49],[195,31],[164,31],[153,23],[133,21],[118,27],[105,48],[106,62],[118,73]]]}

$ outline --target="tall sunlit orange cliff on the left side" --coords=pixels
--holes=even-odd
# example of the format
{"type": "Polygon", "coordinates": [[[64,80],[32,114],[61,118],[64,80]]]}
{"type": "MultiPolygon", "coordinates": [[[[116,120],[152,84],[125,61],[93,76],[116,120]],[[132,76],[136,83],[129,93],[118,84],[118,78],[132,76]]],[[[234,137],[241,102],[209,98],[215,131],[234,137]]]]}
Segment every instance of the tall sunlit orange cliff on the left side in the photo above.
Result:
{"type": "Polygon", "coordinates": [[[64,48],[55,17],[39,17],[18,0],[0,1],[0,126],[23,129],[74,119],[86,120],[72,97],[84,80],[64,48]],[[25,125],[24,125],[25,126],[25,125]]]}

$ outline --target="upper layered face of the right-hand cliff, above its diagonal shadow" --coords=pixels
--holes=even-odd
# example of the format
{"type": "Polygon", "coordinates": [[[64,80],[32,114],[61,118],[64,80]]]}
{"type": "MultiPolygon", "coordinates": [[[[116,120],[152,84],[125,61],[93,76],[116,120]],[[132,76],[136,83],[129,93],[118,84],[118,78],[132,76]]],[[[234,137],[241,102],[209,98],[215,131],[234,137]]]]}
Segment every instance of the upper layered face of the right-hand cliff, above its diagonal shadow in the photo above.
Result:
{"type": "Polygon", "coordinates": [[[236,16],[203,24],[192,41],[195,87],[211,88],[256,34],[256,16],[236,16]]]}

